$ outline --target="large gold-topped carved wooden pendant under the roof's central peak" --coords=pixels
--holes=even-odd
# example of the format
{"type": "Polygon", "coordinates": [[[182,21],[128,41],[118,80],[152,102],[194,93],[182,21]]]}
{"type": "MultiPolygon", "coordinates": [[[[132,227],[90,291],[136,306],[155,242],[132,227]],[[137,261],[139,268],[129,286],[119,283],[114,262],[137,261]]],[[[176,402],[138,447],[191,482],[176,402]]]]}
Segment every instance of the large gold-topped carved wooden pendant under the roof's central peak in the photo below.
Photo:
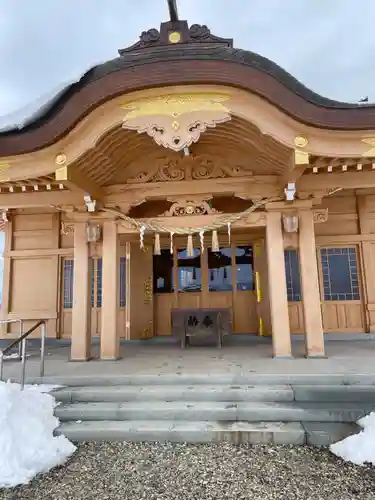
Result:
{"type": "Polygon", "coordinates": [[[123,106],[123,128],[147,133],[154,141],[173,151],[197,142],[207,128],[231,119],[223,102],[229,94],[200,93],[165,95],[140,99],[123,106]],[[178,117],[178,121],[176,118],[178,117]]]}

